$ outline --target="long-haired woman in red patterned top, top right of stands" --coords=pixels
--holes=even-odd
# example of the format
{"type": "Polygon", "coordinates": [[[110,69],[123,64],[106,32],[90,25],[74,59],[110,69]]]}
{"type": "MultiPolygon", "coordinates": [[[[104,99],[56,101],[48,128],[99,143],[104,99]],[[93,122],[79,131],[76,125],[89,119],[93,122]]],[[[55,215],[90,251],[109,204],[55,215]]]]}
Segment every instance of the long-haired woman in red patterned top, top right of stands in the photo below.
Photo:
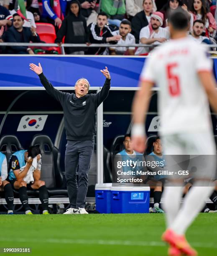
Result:
{"type": "Polygon", "coordinates": [[[207,10],[206,0],[194,0],[190,14],[191,14],[191,24],[193,23],[194,20],[202,20],[205,24],[204,34],[212,37],[215,36],[217,24],[212,13],[210,13],[207,10]]]}

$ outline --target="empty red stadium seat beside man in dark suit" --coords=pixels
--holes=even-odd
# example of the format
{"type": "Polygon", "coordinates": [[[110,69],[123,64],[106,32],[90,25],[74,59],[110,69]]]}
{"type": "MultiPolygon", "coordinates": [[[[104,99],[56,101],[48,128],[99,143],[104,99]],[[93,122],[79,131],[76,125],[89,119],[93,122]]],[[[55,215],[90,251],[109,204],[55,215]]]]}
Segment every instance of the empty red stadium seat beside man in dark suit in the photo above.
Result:
{"type": "Polygon", "coordinates": [[[56,39],[54,25],[50,23],[37,23],[36,32],[40,36],[40,39],[46,43],[54,43],[56,39]]]}

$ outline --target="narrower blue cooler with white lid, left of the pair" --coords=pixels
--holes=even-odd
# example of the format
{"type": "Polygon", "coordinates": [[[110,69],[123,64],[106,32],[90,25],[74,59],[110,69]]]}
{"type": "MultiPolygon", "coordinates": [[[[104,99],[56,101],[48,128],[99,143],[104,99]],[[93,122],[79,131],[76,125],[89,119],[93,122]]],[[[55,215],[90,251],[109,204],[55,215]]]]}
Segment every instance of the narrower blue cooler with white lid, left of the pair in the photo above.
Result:
{"type": "Polygon", "coordinates": [[[112,183],[96,184],[96,210],[100,213],[111,213],[111,189],[112,183]]]}

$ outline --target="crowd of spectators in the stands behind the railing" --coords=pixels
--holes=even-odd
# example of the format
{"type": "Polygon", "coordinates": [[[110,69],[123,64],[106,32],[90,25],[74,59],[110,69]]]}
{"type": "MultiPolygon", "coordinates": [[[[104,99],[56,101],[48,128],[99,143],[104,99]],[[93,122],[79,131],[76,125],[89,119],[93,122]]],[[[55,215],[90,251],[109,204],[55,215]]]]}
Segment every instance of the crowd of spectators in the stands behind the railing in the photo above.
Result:
{"type": "MultiPolygon", "coordinates": [[[[0,43],[30,43],[29,47],[0,46],[0,54],[43,54],[49,50],[58,53],[55,47],[46,51],[33,48],[31,42],[55,42],[59,46],[63,42],[159,45],[169,40],[167,15],[178,7],[189,15],[192,39],[205,44],[216,44],[217,40],[215,0],[40,1],[0,0],[0,43]]],[[[153,47],[71,47],[65,48],[65,52],[147,55],[151,49],[153,47]]]]}

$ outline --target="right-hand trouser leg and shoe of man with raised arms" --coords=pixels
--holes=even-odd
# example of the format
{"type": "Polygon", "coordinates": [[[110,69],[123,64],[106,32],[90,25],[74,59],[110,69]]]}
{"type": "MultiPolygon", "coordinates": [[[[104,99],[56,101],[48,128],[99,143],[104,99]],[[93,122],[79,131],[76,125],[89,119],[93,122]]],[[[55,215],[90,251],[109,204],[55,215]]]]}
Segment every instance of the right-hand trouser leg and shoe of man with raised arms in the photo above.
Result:
{"type": "Polygon", "coordinates": [[[88,172],[94,150],[94,141],[82,141],[79,144],[78,195],[77,207],[80,214],[87,214],[84,209],[88,187],[88,172]]]}

